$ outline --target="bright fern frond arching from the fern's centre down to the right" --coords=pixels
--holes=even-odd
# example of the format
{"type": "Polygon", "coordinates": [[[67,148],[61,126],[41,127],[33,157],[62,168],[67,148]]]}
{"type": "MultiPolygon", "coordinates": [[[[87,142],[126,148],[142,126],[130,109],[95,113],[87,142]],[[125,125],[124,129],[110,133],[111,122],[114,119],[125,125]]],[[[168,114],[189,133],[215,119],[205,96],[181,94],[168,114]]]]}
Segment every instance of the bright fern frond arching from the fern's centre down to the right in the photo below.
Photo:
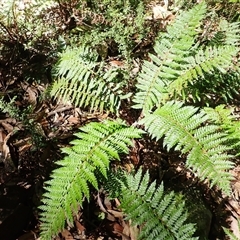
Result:
{"type": "Polygon", "coordinates": [[[208,116],[198,108],[183,106],[180,102],[168,102],[153,114],[148,114],[140,123],[152,137],[163,137],[164,146],[187,154],[186,165],[193,169],[201,180],[209,179],[210,186],[218,185],[230,193],[232,175],[229,169],[230,149],[225,145],[227,138],[220,127],[206,125],[208,116]]]}

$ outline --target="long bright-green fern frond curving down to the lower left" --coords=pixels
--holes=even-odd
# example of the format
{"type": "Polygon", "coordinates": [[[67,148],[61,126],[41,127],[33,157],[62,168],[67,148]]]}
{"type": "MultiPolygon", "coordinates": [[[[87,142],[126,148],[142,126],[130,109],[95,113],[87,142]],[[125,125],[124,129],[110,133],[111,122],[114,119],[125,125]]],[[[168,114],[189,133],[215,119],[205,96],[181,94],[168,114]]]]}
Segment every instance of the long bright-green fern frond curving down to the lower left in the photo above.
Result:
{"type": "Polygon", "coordinates": [[[54,170],[47,182],[41,214],[41,239],[49,240],[63,229],[65,219],[72,223],[72,214],[84,197],[89,199],[89,184],[98,188],[95,171],[107,177],[109,162],[127,153],[133,138],[142,130],[126,126],[122,121],[91,122],[75,134],[72,147],[63,148],[67,156],[58,161],[61,167],[54,170]],[[57,214],[57,217],[56,217],[57,214]]]}

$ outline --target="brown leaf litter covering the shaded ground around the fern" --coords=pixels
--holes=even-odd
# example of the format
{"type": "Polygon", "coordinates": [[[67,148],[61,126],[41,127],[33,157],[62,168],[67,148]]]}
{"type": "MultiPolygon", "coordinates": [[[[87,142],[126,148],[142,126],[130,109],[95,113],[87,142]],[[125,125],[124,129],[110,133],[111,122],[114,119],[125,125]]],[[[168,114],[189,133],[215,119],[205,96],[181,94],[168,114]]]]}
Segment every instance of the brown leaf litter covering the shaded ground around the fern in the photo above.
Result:
{"type": "MultiPolygon", "coordinates": [[[[168,17],[171,16],[169,13],[168,17]]],[[[39,238],[38,206],[44,182],[56,167],[55,162],[63,157],[61,148],[69,146],[80,126],[102,120],[106,115],[89,114],[70,103],[44,99],[42,95],[51,82],[49,72],[31,72],[38,77],[42,74],[39,77],[41,83],[34,79],[26,81],[23,76],[24,71],[35,71],[43,66],[47,69],[45,56],[41,53],[27,56],[26,52],[15,49],[14,44],[9,52],[4,53],[4,59],[0,58],[0,95],[8,100],[16,96],[13,105],[21,113],[20,117],[16,112],[12,115],[7,111],[0,113],[0,240],[34,240],[39,238]],[[28,106],[34,108],[31,114],[28,106]]],[[[152,47],[151,42],[147,44],[148,48],[152,47]]],[[[143,55],[145,53],[142,52],[143,55]]],[[[114,59],[111,64],[121,65],[121,61],[114,59]]],[[[133,110],[121,114],[128,122],[136,121],[139,115],[133,110]]],[[[135,141],[129,156],[114,164],[121,164],[129,171],[140,167],[149,169],[151,176],[164,181],[166,189],[179,192],[196,189],[206,208],[202,221],[208,239],[223,240],[223,226],[233,230],[240,239],[237,227],[237,219],[240,218],[238,164],[232,170],[235,181],[230,197],[200,182],[184,167],[176,152],[169,153],[160,144],[153,146],[148,139],[135,141]]],[[[74,224],[66,226],[55,240],[135,240],[139,229],[131,227],[124,219],[118,208],[118,199],[109,200],[105,192],[93,191],[90,202],[84,202],[84,206],[84,211],[79,209],[75,216],[74,224]]]]}

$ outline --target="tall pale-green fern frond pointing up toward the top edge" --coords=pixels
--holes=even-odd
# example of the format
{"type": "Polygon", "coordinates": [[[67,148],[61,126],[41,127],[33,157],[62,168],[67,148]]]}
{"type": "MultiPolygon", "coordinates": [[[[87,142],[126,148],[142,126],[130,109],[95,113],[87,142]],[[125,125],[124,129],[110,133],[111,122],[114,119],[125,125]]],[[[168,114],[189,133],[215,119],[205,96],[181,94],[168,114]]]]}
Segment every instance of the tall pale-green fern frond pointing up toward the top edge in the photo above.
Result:
{"type": "Polygon", "coordinates": [[[205,12],[205,3],[183,12],[167,27],[167,33],[159,37],[154,47],[157,56],[150,55],[152,62],[145,61],[138,76],[139,92],[133,99],[134,108],[148,111],[161,102],[169,83],[181,73],[205,12]]]}

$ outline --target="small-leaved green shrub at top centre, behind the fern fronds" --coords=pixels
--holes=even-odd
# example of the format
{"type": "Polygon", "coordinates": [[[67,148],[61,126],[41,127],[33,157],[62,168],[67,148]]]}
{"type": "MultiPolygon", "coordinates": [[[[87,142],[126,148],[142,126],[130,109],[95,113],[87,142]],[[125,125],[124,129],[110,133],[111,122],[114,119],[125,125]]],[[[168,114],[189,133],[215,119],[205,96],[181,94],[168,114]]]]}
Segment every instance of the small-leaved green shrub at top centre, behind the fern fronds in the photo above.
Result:
{"type": "Polygon", "coordinates": [[[110,50],[131,61],[132,50],[147,32],[143,1],[80,1],[78,10],[84,24],[72,30],[77,41],[97,46],[99,52],[104,49],[100,53],[103,58],[110,50]]]}

